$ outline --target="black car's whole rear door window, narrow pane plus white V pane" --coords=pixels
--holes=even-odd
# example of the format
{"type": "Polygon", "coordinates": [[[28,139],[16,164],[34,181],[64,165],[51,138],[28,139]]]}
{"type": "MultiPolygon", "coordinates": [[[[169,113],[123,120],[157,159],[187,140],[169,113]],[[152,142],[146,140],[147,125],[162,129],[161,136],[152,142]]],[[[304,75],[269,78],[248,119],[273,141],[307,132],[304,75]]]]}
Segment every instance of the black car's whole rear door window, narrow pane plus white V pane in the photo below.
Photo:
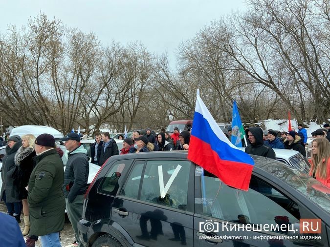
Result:
{"type": "Polygon", "coordinates": [[[190,165],[188,161],[171,160],[152,160],[146,164],[134,164],[120,195],[187,210],[190,165]]]}

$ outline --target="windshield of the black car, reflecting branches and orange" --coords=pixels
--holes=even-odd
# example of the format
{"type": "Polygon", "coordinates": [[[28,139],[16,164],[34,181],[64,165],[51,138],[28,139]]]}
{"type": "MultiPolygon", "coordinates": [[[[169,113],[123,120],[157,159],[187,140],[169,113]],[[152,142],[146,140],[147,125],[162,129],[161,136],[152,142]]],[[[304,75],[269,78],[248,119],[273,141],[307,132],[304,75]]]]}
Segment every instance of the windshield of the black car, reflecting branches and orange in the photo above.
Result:
{"type": "MultiPolygon", "coordinates": [[[[255,161],[259,160],[257,156],[254,157],[255,161]]],[[[321,184],[316,179],[310,177],[308,174],[302,173],[300,170],[290,168],[280,162],[266,163],[266,160],[258,161],[259,167],[271,173],[277,178],[290,185],[310,201],[323,208],[326,212],[330,213],[330,188],[321,184]],[[261,164],[264,163],[264,164],[261,164]]]]}

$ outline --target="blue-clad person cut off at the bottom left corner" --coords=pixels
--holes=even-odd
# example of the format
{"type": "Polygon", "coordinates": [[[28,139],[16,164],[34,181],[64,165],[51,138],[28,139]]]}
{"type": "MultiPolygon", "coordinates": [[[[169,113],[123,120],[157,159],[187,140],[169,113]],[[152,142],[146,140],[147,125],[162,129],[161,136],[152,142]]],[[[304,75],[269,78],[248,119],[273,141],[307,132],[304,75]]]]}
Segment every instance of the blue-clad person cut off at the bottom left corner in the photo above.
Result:
{"type": "Polygon", "coordinates": [[[1,246],[26,247],[20,226],[13,217],[0,212],[1,246]]]}

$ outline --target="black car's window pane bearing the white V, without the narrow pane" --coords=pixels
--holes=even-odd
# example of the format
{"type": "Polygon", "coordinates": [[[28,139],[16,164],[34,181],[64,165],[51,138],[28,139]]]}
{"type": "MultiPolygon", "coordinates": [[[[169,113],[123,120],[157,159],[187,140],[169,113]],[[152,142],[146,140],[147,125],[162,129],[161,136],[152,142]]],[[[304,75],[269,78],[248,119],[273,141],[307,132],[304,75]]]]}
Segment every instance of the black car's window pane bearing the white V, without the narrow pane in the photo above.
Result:
{"type": "Polygon", "coordinates": [[[186,210],[190,164],[188,161],[148,161],[140,200],[186,210]]]}

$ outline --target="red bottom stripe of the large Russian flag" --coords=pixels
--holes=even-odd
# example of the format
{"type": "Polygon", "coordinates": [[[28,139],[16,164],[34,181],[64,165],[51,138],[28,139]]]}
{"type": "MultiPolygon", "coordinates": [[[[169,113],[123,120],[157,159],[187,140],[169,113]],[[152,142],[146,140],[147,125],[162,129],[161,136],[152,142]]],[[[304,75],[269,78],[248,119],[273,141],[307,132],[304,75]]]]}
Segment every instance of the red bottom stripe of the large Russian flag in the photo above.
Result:
{"type": "Polygon", "coordinates": [[[190,137],[188,159],[216,175],[226,185],[247,191],[253,165],[221,160],[211,145],[195,136],[190,137]]]}

